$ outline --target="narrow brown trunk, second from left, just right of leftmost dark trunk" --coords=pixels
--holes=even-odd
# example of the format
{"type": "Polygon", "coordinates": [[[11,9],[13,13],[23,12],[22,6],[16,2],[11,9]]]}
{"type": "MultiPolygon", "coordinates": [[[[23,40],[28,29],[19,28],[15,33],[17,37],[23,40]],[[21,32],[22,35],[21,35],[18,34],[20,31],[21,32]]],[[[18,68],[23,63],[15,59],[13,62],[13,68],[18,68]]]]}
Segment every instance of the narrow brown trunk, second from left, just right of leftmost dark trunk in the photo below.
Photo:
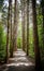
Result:
{"type": "Polygon", "coordinates": [[[10,40],[10,50],[11,50],[11,55],[10,55],[10,57],[13,57],[13,45],[12,45],[12,0],[11,0],[11,5],[10,5],[10,12],[11,12],[11,14],[10,14],[10,20],[11,20],[11,23],[10,23],[10,31],[11,31],[11,35],[10,35],[10,37],[11,37],[11,40],[10,40]]]}

